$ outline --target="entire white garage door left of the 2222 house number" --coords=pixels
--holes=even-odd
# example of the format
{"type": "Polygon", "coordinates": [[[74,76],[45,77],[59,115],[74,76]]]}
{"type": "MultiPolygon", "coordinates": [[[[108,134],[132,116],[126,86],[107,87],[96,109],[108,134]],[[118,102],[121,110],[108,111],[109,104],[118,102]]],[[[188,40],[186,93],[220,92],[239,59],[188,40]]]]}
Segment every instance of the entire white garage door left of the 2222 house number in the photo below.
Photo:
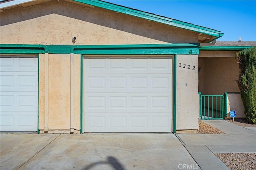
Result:
{"type": "Polygon", "coordinates": [[[85,132],[171,132],[171,57],[84,61],[85,132]]]}

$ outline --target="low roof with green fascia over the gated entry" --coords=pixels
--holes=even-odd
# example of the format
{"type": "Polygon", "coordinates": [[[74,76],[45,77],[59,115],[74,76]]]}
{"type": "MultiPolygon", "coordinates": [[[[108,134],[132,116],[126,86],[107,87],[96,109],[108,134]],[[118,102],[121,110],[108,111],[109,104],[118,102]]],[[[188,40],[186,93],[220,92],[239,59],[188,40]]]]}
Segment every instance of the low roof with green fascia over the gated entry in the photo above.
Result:
{"type": "Polygon", "coordinates": [[[200,51],[240,51],[256,46],[256,41],[217,41],[213,46],[202,46],[200,51]]]}

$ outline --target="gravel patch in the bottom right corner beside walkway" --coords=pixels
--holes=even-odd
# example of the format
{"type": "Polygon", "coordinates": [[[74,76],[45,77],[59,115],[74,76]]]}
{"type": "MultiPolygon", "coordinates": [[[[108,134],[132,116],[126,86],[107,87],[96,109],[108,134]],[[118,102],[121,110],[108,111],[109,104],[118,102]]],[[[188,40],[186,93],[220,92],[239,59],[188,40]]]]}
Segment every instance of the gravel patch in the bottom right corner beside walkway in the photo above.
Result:
{"type": "Polygon", "coordinates": [[[256,153],[215,154],[230,170],[255,170],[256,153]]]}

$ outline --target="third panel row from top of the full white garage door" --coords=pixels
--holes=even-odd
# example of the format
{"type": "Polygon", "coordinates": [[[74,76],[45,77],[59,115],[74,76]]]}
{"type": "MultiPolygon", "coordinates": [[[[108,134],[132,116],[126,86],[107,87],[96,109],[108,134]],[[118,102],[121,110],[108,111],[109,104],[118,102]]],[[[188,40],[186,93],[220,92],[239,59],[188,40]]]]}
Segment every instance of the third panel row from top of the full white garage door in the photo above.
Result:
{"type": "Polygon", "coordinates": [[[170,94],[86,93],[85,112],[171,112],[170,94]]]}

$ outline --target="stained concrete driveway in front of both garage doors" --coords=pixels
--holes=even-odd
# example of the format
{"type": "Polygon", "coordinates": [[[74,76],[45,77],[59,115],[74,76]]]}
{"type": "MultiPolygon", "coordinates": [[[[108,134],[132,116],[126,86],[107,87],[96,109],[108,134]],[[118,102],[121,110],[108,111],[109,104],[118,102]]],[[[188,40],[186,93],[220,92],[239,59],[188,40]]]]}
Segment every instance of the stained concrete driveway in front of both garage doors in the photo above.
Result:
{"type": "Polygon", "coordinates": [[[174,134],[1,134],[1,169],[198,167],[174,134]]]}

